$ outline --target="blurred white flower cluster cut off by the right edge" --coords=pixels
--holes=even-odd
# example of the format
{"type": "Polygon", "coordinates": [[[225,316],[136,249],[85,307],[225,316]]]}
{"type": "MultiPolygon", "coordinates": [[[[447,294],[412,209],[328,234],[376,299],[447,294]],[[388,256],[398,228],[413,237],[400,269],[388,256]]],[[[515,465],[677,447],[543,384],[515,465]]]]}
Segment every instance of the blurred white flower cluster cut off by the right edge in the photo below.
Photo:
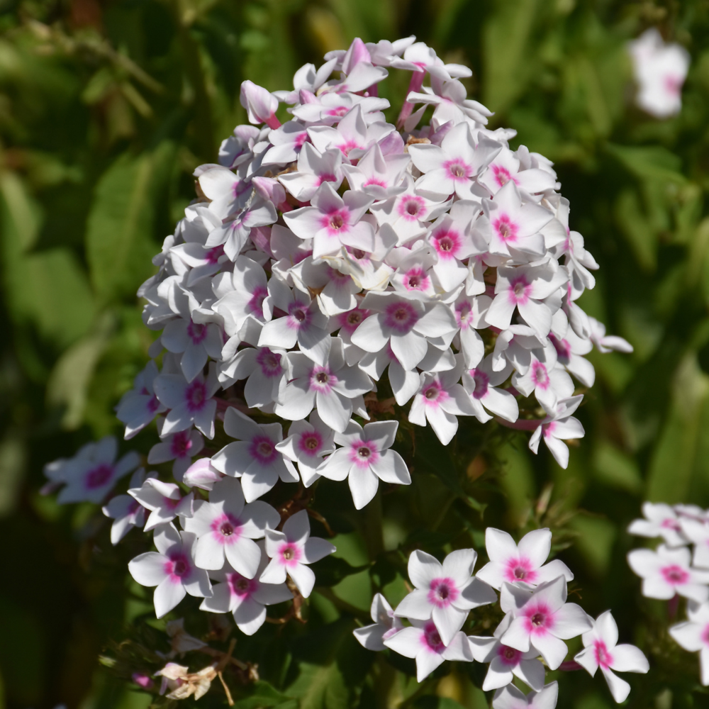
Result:
{"type": "Polygon", "coordinates": [[[642,578],[643,596],[688,599],[688,620],[670,627],[669,634],[684,649],[700,653],[701,682],[709,686],[709,510],[646,502],[642,513],[644,519],[633,521],[628,532],[663,543],[654,551],[634,549],[628,564],[642,578]]]}

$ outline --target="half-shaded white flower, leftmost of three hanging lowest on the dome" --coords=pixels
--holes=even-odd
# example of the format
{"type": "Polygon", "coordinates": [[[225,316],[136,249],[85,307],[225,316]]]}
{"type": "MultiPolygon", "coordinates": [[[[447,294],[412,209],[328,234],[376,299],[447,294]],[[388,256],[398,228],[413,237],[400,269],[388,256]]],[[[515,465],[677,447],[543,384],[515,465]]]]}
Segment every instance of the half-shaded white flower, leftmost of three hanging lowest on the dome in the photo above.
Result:
{"type": "Polygon", "coordinates": [[[241,478],[247,502],[267,493],[279,478],[284,482],[298,482],[293,464],[284,459],[276,447],[283,439],[280,423],[259,425],[229,407],[224,415],[224,432],[238,440],[213,455],[211,464],[228,476],[241,478]]]}

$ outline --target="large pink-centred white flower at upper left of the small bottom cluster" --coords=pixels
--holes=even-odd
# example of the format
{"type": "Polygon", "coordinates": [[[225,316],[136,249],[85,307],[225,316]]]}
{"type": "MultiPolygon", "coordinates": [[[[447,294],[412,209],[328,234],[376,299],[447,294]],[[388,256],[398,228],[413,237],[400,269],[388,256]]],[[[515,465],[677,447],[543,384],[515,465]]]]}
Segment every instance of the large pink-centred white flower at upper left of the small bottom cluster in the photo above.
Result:
{"type": "Polygon", "coordinates": [[[497,600],[492,588],[472,575],[477,557],[474,549],[458,549],[441,564],[426,552],[411,552],[408,577],[414,590],[396,606],[396,615],[432,619],[442,644],[450,644],[471,609],[497,600]]]}

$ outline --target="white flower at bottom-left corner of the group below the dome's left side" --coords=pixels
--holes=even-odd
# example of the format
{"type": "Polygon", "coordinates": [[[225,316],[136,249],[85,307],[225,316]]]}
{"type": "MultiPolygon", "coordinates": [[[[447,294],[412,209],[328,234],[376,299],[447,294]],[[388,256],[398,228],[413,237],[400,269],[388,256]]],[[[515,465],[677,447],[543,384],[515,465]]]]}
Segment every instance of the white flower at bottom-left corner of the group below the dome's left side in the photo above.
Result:
{"type": "Polygon", "coordinates": [[[178,532],[172,523],[155,528],[157,552],[139,554],[129,562],[128,571],[141,586],[157,586],[153,601],[155,615],[162,618],[186,593],[197,598],[212,594],[207,572],[194,562],[194,534],[178,532]]]}

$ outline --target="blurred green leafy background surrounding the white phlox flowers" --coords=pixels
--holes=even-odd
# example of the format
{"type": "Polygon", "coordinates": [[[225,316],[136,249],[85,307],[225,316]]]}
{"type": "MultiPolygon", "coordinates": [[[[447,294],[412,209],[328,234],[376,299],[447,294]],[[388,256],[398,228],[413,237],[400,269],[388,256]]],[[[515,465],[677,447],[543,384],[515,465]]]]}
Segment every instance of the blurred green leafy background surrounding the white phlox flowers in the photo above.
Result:
{"type": "MultiPolygon", "coordinates": [[[[706,705],[696,656],[672,648],[666,608],[640,597],[625,564],[625,527],[643,499],[709,505],[706,0],[0,2],[0,705],[150,702],[97,662],[146,611],[125,574],[142,542],[111,549],[94,508],[39,496],[42,466],[120,435],[112,407],[152,337],[135,290],[194,195],[192,170],[245,121],[242,79],[288,88],[298,66],[354,36],[410,33],[473,69],[469,95],[496,111],[493,127],[516,128],[515,145],[554,160],[572,228],[601,264],[581,305],[635,353],[593,357],[588,435],[566,471],[545,450],[532,456],[523,435],[490,425],[483,440],[462,421],[447,458],[432,450],[427,462],[422,447],[411,495],[385,501],[384,547],[362,533],[351,502],[323,489],[338,556],[379,562],[335,574],[305,627],[239,641],[238,655],[268,658],[270,683],[241,706],[486,706],[466,668],[411,696],[405,673],[392,676],[383,659],[370,667],[353,617],[366,619],[372,588],[403,593],[397,545],[480,549],[486,525],[521,533],[536,523],[554,529],[586,610],[613,608],[621,638],[651,657],[631,705],[706,705]],[[625,43],[647,26],[692,56],[683,111],[669,121],[632,106],[625,43]]],[[[612,705],[601,679],[559,679],[564,709],[612,705]]],[[[223,705],[220,689],[200,704],[223,705]]]]}

